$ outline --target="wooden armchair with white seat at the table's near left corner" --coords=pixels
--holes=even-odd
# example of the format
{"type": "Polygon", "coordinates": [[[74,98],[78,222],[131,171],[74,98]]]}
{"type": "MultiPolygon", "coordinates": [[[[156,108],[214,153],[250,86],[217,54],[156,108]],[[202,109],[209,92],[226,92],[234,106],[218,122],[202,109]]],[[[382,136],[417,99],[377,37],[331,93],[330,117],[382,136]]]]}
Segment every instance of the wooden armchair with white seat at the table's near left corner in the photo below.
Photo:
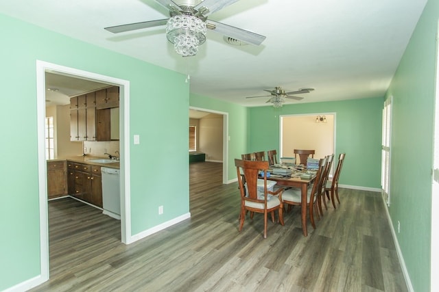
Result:
{"type": "MultiPolygon", "coordinates": [[[[283,225],[283,204],[282,193],[283,188],[276,191],[267,189],[267,170],[268,161],[249,161],[235,159],[237,177],[239,183],[239,191],[241,192],[241,211],[239,212],[239,231],[244,226],[246,211],[250,214],[263,213],[263,238],[267,238],[267,217],[268,213],[272,213],[272,222],[274,222],[274,211],[278,211],[279,222],[283,225]],[[263,189],[258,188],[259,172],[263,171],[263,189]],[[246,180],[247,194],[244,191],[244,174],[246,180]]],[[[260,178],[262,179],[262,178],[260,178]]]]}

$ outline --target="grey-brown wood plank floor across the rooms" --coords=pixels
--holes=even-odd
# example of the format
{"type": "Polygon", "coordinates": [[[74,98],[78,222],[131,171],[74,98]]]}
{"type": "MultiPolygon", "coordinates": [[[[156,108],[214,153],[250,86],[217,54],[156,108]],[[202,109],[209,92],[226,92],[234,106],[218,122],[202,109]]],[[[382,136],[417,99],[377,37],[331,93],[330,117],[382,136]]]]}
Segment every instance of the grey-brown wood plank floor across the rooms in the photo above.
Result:
{"type": "Polygon", "coordinates": [[[32,291],[407,291],[379,193],[340,189],[309,235],[246,217],[222,163],[190,165],[191,218],[124,245],[120,224],[71,198],[49,202],[50,280],[32,291]]]}

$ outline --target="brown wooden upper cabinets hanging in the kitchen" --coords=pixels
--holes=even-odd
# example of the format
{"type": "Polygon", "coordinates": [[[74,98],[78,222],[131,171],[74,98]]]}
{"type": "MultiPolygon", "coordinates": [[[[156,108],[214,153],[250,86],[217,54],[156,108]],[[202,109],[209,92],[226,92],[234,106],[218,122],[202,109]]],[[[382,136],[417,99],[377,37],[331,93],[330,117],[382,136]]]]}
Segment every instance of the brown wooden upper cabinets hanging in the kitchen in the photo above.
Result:
{"type": "Polygon", "coordinates": [[[110,109],[116,107],[119,110],[117,86],[70,98],[70,140],[119,140],[119,137],[112,136],[110,131],[110,109]],[[108,111],[108,114],[104,114],[104,111],[108,111]]]}

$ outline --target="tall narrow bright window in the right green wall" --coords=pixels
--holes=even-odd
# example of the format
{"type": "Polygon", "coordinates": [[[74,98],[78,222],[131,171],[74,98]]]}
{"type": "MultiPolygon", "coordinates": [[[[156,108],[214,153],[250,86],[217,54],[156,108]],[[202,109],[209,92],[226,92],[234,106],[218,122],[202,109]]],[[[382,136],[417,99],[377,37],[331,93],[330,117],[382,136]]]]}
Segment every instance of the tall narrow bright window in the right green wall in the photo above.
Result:
{"type": "Polygon", "coordinates": [[[381,189],[384,200],[390,205],[390,124],[392,121],[392,97],[384,102],[383,139],[381,145],[381,189]]]}

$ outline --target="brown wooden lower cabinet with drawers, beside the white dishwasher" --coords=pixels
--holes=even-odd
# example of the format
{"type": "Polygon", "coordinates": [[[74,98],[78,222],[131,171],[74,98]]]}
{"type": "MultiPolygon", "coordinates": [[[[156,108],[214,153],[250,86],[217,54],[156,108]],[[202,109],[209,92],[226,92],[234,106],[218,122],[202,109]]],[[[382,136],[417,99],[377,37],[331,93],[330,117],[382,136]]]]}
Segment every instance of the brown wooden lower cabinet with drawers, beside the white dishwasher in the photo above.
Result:
{"type": "Polygon", "coordinates": [[[101,167],[67,162],[69,194],[102,208],[101,167]]]}

